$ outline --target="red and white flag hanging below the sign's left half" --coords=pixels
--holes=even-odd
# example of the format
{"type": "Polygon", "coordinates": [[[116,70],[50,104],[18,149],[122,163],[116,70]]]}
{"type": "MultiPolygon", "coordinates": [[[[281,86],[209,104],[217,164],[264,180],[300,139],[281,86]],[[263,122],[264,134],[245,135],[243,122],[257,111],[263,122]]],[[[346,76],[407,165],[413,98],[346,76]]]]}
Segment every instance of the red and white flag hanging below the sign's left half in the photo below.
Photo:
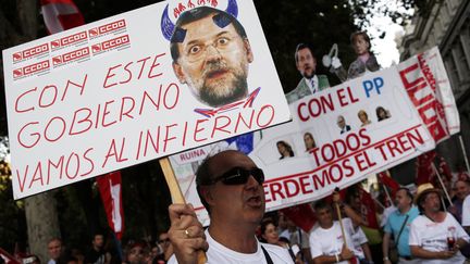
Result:
{"type": "Polygon", "coordinates": [[[122,204],[121,172],[99,176],[96,179],[103,201],[108,225],[121,240],[124,231],[124,210],[122,204]]]}

